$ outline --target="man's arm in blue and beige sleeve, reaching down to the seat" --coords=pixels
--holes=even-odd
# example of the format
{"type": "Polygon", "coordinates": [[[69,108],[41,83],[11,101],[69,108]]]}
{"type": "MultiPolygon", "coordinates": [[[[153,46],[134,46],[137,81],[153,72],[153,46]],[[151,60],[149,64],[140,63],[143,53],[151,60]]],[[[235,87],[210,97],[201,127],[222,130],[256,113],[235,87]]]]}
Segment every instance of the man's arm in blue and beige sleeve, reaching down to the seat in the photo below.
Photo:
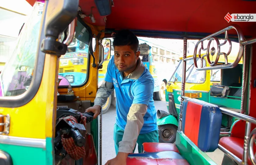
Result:
{"type": "Polygon", "coordinates": [[[127,115],[127,124],[124,129],[123,139],[119,142],[119,152],[132,153],[137,142],[140,130],[144,124],[144,115],[154,91],[154,84],[147,79],[134,88],[133,104],[127,115]]]}

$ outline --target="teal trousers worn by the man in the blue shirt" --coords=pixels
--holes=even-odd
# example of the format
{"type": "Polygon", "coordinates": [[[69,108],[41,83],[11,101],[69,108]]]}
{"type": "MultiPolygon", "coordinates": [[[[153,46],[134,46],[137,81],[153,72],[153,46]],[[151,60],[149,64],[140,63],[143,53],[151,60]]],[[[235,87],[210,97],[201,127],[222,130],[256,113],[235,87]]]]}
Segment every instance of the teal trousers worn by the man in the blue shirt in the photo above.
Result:
{"type": "MultiPolygon", "coordinates": [[[[115,143],[116,155],[118,153],[119,142],[122,141],[122,139],[123,139],[123,133],[124,133],[123,129],[121,129],[118,125],[115,124],[115,126],[114,126],[114,143],[115,143]]],[[[139,134],[138,139],[137,139],[139,153],[141,153],[142,144],[144,142],[157,142],[158,143],[158,130],[155,130],[155,131],[152,131],[152,132],[149,132],[146,134],[139,134]]],[[[135,151],[136,145],[133,149],[133,153],[135,151]]]]}

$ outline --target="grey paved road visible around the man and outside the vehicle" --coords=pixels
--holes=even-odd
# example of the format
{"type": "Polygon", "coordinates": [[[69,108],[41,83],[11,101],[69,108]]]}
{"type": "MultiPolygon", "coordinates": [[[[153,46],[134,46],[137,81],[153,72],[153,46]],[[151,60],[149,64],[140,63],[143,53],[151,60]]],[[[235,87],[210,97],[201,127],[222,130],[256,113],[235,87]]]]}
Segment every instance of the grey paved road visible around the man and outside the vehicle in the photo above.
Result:
{"type": "MultiPolygon", "coordinates": [[[[156,109],[165,110],[167,108],[165,101],[155,101],[156,109]]],[[[116,121],[116,108],[110,107],[108,112],[102,115],[102,164],[105,164],[109,159],[116,156],[114,140],[113,140],[113,129],[116,121]]],[[[136,148],[135,153],[138,153],[136,148]]],[[[218,165],[221,165],[223,153],[219,149],[212,153],[207,153],[212,160],[214,160],[218,165]]]]}

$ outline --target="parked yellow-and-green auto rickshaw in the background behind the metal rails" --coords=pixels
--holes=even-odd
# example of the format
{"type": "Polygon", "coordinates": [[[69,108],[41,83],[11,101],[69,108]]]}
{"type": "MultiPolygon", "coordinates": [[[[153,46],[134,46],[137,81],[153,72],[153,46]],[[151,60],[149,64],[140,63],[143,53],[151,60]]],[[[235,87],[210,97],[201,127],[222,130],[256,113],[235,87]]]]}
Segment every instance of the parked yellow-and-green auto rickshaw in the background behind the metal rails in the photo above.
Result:
{"type": "MultiPolygon", "coordinates": [[[[223,42],[224,40],[220,40],[219,42],[223,42]]],[[[207,43],[206,43],[207,44],[207,43]]],[[[216,43],[212,44],[215,45],[216,43]]],[[[236,59],[236,55],[238,52],[237,43],[233,42],[233,50],[229,54],[229,62],[232,63],[236,59]],[[235,46],[234,46],[235,45],[235,46]]],[[[227,45],[223,50],[228,50],[227,45]]],[[[206,55],[206,51],[201,52],[201,56],[206,55]]],[[[211,56],[211,58],[215,59],[216,55],[211,56]]],[[[193,55],[187,56],[187,65],[186,65],[186,87],[185,87],[185,96],[188,98],[196,98],[198,100],[203,100],[209,103],[217,104],[218,106],[226,106],[232,105],[231,107],[235,112],[240,112],[240,104],[241,104],[241,80],[242,80],[242,64],[243,60],[241,59],[238,67],[236,68],[235,73],[239,73],[237,80],[233,79],[233,84],[228,84],[230,88],[228,90],[225,89],[226,92],[224,95],[221,95],[221,89],[219,89],[220,82],[225,84],[229,78],[232,78],[234,75],[230,73],[226,73],[229,70],[205,70],[198,71],[194,66],[193,55]],[[216,77],[217,74],[220,74],[222,77],[216,77]],[[224,81],[224,83],[223,83],[224,81]],[[238,86],[237,86],[238,85],[238,86]],[[240,85],[240,86],[239,86],[240,85]],[[213,87],[213,88],[212,88],[213,87]],[[216,93],[217,92],[217,93],[216,93]],[[221,101],[215,101],[214,96],[221,95],[221,101]],[[214,101],[213,101],[214,100],[214,101]]],[[[201,60],[199,60],[199,55],[197,54],[197,65],[201,64],[201,60]]],[[[218,63],[224,63],[225,58],[223,56],[219,57],[218,63]]],[[[210,65],[206,63],[206,60],[203,60],[203,65],[209,67],[210,65]]],[[[163,110],[158,110],[158,129],[159,129],[159,141],[161,143],[174,143],[176,139],[176,132],[178,129],[178,120],[180,114],[180,101],[181,101],[181,79],[182,79],[182,71],[183,71],[183,58],[180,59],[176,70],[172,74],[172,77],[168,81],[165,90],[165,100],[168,112],[163,110]]],[[[228,132],[233,122],[235,122],[237,118],[223,115],[222,117],[222,131],[228,132]]],[[[227,136],[227,135],[220,135],[227,136]]]]}

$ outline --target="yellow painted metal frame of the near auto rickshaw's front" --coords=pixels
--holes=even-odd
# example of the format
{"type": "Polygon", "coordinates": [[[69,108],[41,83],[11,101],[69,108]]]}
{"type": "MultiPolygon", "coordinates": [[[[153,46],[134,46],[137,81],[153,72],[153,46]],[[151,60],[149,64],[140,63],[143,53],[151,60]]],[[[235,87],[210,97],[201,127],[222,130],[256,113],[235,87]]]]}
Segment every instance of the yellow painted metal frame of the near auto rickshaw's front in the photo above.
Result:
{"type": "MultiPolygon", "coordinates": [[[[92,33],[96,33],[105,27],[94,27],[88,24],[92,33]]],[[[104,33],[101,37],[104,36],[104,33]]],[[[101,49],[101,48],[100,48],[101,49]]],[[[99,45],[94,52],[95,61],[98,63],[99,45]]],[[[84,87],[73,88],[76,96],[81,100],[94,101],[98,89],[98,68],[92,67],[93,58],[90,58],[89,80],[84,87]]],[[[55,114],[57,106],[57,90],[60,94],[67,93],[67,88],[57,89],[59,72],[59,58],[46,54],[41,85],[35,97],[26,105],[17,108],[2,108],[0,114],[10,115],[10,130],[8,136],[26,137],[36,139],[53,138],[55,134],[55,114]],[[53,72],[55,70],[55,72],[53,72]],[[34,124],[29,124],[34,123],[34,124]]]]}

